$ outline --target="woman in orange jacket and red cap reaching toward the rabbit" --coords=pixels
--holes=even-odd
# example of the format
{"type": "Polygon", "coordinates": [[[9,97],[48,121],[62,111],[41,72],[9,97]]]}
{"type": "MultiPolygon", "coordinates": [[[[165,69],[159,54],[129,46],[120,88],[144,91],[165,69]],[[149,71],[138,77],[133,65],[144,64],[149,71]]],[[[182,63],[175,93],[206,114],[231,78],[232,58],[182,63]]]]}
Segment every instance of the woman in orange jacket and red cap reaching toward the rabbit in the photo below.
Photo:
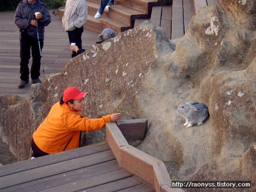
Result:
{"type": "Polygon", "coordinates": [[[76,87],[68,87],[60,102],[52,106],[48,116],[33,134],[32,158],[66,151],[79,147],[80,131],[94,131],[105,127],[107,122],[116,122],[120,113],[88,119],[78,111],[84,111],[84,96],[76,87]]]}

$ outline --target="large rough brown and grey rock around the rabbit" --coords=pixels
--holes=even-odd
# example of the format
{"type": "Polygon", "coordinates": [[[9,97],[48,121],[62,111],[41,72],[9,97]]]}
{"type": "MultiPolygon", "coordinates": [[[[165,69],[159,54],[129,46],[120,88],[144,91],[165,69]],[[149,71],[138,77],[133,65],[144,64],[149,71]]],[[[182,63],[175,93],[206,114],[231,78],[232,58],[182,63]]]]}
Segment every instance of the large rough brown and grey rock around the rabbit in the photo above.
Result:
{"type": "MultiPolygon", "coordinates": [[[[168,40],[144,22],[73,58],[30,96],[0,97],[1,135],[18,160],[28,159],[32,133],[68,86],[89,92],[89,118],[135,109],[122,119],[148,118],[138,149],[179,165],[184,180],[250,180],[256,172],[256,3],[220,0],[192,18],[184,37],[168,40]],[[186,128],[176,109],[204,102],[210,118],[186,128]]],[[[104,140],[104,129],[85,144],[104,140]]],[[[190,191],[212,189],[190,189],[190,191]]],[[[214,191],[230,189],[216,188],[214,191]]],[[[238,189],[237,191],[243,191],[238,189]]]]}

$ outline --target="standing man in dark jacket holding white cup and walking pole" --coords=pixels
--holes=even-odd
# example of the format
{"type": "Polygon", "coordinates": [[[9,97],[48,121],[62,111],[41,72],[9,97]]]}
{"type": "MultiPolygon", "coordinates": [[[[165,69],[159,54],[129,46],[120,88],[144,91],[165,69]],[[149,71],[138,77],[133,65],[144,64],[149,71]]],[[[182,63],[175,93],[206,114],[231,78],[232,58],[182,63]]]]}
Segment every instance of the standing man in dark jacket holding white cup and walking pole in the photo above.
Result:
{"type": "Polygon", "coordinates": [[[50,14],[46,4],[40,0],[22,0],[15,11],[14,23],[20,28],[20,84],[18,88],[24,88],[29,83],[28,63],[30,59],[30,49],[32,54],[32,66],[30,69],[31,83],[41,83],[40,49],[44,45],[44,26],[51,22],[50,14]],[[39,14],[36,14],[39,12],[39,14]],[[38,34],[37,34],[38,33],[38,34]]]}

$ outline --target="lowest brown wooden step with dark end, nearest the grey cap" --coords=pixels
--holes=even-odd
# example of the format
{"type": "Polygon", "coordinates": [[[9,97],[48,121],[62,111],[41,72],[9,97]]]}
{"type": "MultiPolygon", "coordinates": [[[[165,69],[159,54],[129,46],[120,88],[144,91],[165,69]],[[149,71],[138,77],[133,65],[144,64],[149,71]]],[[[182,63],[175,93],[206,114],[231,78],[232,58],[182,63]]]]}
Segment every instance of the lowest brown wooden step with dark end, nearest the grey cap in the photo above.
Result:
{"type": "Polygon", "coordinates": [[[119,32],[124,32],[128,29],[131,29],[130,26],[125,25],[123,23],[120,23],[120,22],[118,22],[116,20],[113,20],[111,18],[108,18],[108,17],[107,18],[102,18],[100,21],[103,24],[103,29],[111,28],[111,29],[114,30],[114,32],[116,34],[119,34],[119,32]]]}

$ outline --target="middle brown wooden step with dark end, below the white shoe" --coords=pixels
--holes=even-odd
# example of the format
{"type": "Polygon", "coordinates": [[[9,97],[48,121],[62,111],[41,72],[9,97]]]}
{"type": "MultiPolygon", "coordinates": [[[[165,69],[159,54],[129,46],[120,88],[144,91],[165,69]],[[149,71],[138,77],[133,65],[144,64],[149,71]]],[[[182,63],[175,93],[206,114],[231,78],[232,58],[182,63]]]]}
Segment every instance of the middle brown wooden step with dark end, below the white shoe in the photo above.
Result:
{"type": "Polygon", "coordinates": [[[131,28],[134,27],[135,19],[146,19],[149,17],[148,14],[145,14],[144,12],[121,5],[110,6],[108,16],[109,18],[117,20],[118,22],[130,26],[131,28]]]}

